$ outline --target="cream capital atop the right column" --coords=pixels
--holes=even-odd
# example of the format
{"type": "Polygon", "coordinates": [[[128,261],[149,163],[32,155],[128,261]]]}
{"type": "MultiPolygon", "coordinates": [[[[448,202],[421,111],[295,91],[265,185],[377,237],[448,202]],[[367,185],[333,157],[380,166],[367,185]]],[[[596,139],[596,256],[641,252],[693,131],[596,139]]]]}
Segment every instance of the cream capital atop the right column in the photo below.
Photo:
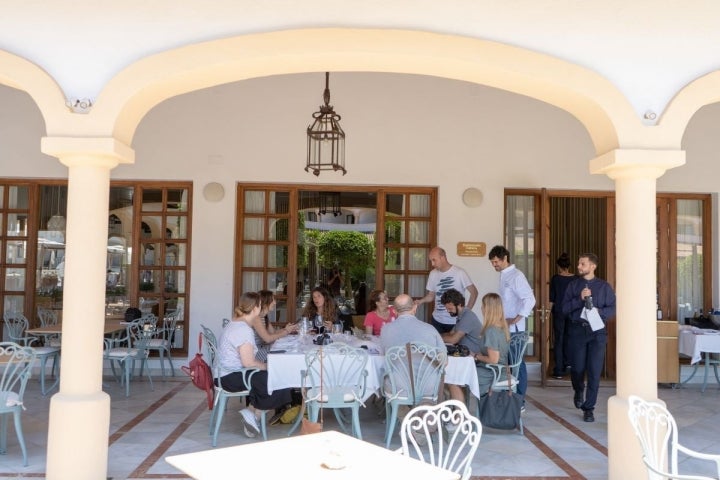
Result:
{"type": "Polygon", "coordinates": [[[619,178],[652,178],[685,165],[684,150],[616,149],[590,160],[590,173],[619,178]]]}

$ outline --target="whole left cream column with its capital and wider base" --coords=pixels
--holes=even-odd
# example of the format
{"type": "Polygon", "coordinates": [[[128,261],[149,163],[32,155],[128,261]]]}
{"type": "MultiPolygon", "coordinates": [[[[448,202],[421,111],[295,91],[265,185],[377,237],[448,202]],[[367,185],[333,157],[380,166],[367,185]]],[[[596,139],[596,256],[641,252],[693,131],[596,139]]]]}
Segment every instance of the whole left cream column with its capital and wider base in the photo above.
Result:
{"type": "Polygon", "coordinates": [[[60,390],[50,400],[47,479],[107,477],[110,397],[102,391],[110,170],[132,162],[112,138],[45,137],[68,167],[60,390]]]}

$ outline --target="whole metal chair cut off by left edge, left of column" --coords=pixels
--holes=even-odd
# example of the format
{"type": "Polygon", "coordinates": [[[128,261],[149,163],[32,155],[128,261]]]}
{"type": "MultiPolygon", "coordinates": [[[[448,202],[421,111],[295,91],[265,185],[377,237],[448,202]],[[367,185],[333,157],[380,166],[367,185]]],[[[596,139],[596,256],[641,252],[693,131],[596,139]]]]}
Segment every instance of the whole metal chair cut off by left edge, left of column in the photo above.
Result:
{"type": "Polygon", "coordinates": [[[35,362],[35,350],[13,342],[0,343],[0,357],[5,368],[0,374],[0,454],[7,453],[8,416],[13,416],[15,433],[23,453],[23,465],[27,467],[27,449],[20,416],[25,410],[23,396],[30,370],[35,362]]]}

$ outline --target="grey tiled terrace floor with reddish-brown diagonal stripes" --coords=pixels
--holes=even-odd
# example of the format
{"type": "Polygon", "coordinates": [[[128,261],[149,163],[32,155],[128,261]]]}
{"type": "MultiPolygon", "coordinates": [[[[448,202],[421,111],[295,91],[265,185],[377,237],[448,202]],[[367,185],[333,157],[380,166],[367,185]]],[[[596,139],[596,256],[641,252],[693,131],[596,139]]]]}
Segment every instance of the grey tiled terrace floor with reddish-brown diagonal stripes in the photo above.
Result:
{"type": "MultiPolygon", "coordinates": [[[[584,423],[579,410],[572,405],[569,383],[555,383],[561,386],[541,388],[531,385],[524,436],[489,429],[483,432],[473,462],[473,478],[607,477],[605,405],[614,389],[601,388],[597,421],[584,423]]],[[[157,379],[155,391],[150,390],[146,381],[134,381],[129,399],[124,397],[123,390],[114,380],[106,379],[106,387],[113,399],[108,477],[188,478],[163,459],[168,455],[211,448],[208,436],[210,413],[205,394],[192,386],[187,377],[180,376],[165,382],[157,379]]],[[[684,444],[720,452],[720,390],[717,385],[709,386],[704,394],[697,384],[676,390],[661,388],[659,396],[676,416],[684,444]]],[[[26,404],[23,424],[30,465],[21,465],[22,456],[10,427],[9,452],[0,456],[0,478],[44,478],[49,398],[39,394],[35,379],[29,383],[26,404]]],[[[218,447],[258,441],[242,434],[238,408],[238,403],[232,403],[228,409],[218,447]]],[[[385,425],[378,413],[374,405],[368,404],[362,413],[362,429],[365,440],[382,445],[385,425]]],[[[332,415],[328,415],[325,428],[334,426],[332,415]]],[[[268,426],[270,438],[283,437],[287,430],[287,425],[268,426]]],[[[399,440],[396,438],[391,448],[397,447],[399,440]]],[[[714,475],[707,466],[702,468],[705,474],[714,475]]]]}

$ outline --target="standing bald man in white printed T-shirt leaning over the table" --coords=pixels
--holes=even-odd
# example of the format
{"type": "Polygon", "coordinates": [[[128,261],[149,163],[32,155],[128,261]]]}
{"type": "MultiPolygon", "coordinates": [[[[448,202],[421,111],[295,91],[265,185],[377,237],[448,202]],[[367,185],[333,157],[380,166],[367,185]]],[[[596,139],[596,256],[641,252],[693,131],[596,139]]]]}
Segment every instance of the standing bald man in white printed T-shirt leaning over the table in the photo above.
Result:
{"type": "Polygon", "coordinates": [[[424,297],[415,300],[415,304],[419,305],[434,301],[435,309],[433,310],[432,326],[441,334],[447,333],[455,326],[455,318],[447,312],[445,305],[440,300],[442,294],[451,288],[458,292],[467,290],[470,297],[465,305],[469,310],[472,310],[477,300],[477,287],[470,280],[470,276],[465,270],[447,261],[447,254],[442,248],[435,247],[430,250],[428,259],[433,266],[433,270],[428,276],[427,285],[425,285],[427,293],[424,297]]]}

